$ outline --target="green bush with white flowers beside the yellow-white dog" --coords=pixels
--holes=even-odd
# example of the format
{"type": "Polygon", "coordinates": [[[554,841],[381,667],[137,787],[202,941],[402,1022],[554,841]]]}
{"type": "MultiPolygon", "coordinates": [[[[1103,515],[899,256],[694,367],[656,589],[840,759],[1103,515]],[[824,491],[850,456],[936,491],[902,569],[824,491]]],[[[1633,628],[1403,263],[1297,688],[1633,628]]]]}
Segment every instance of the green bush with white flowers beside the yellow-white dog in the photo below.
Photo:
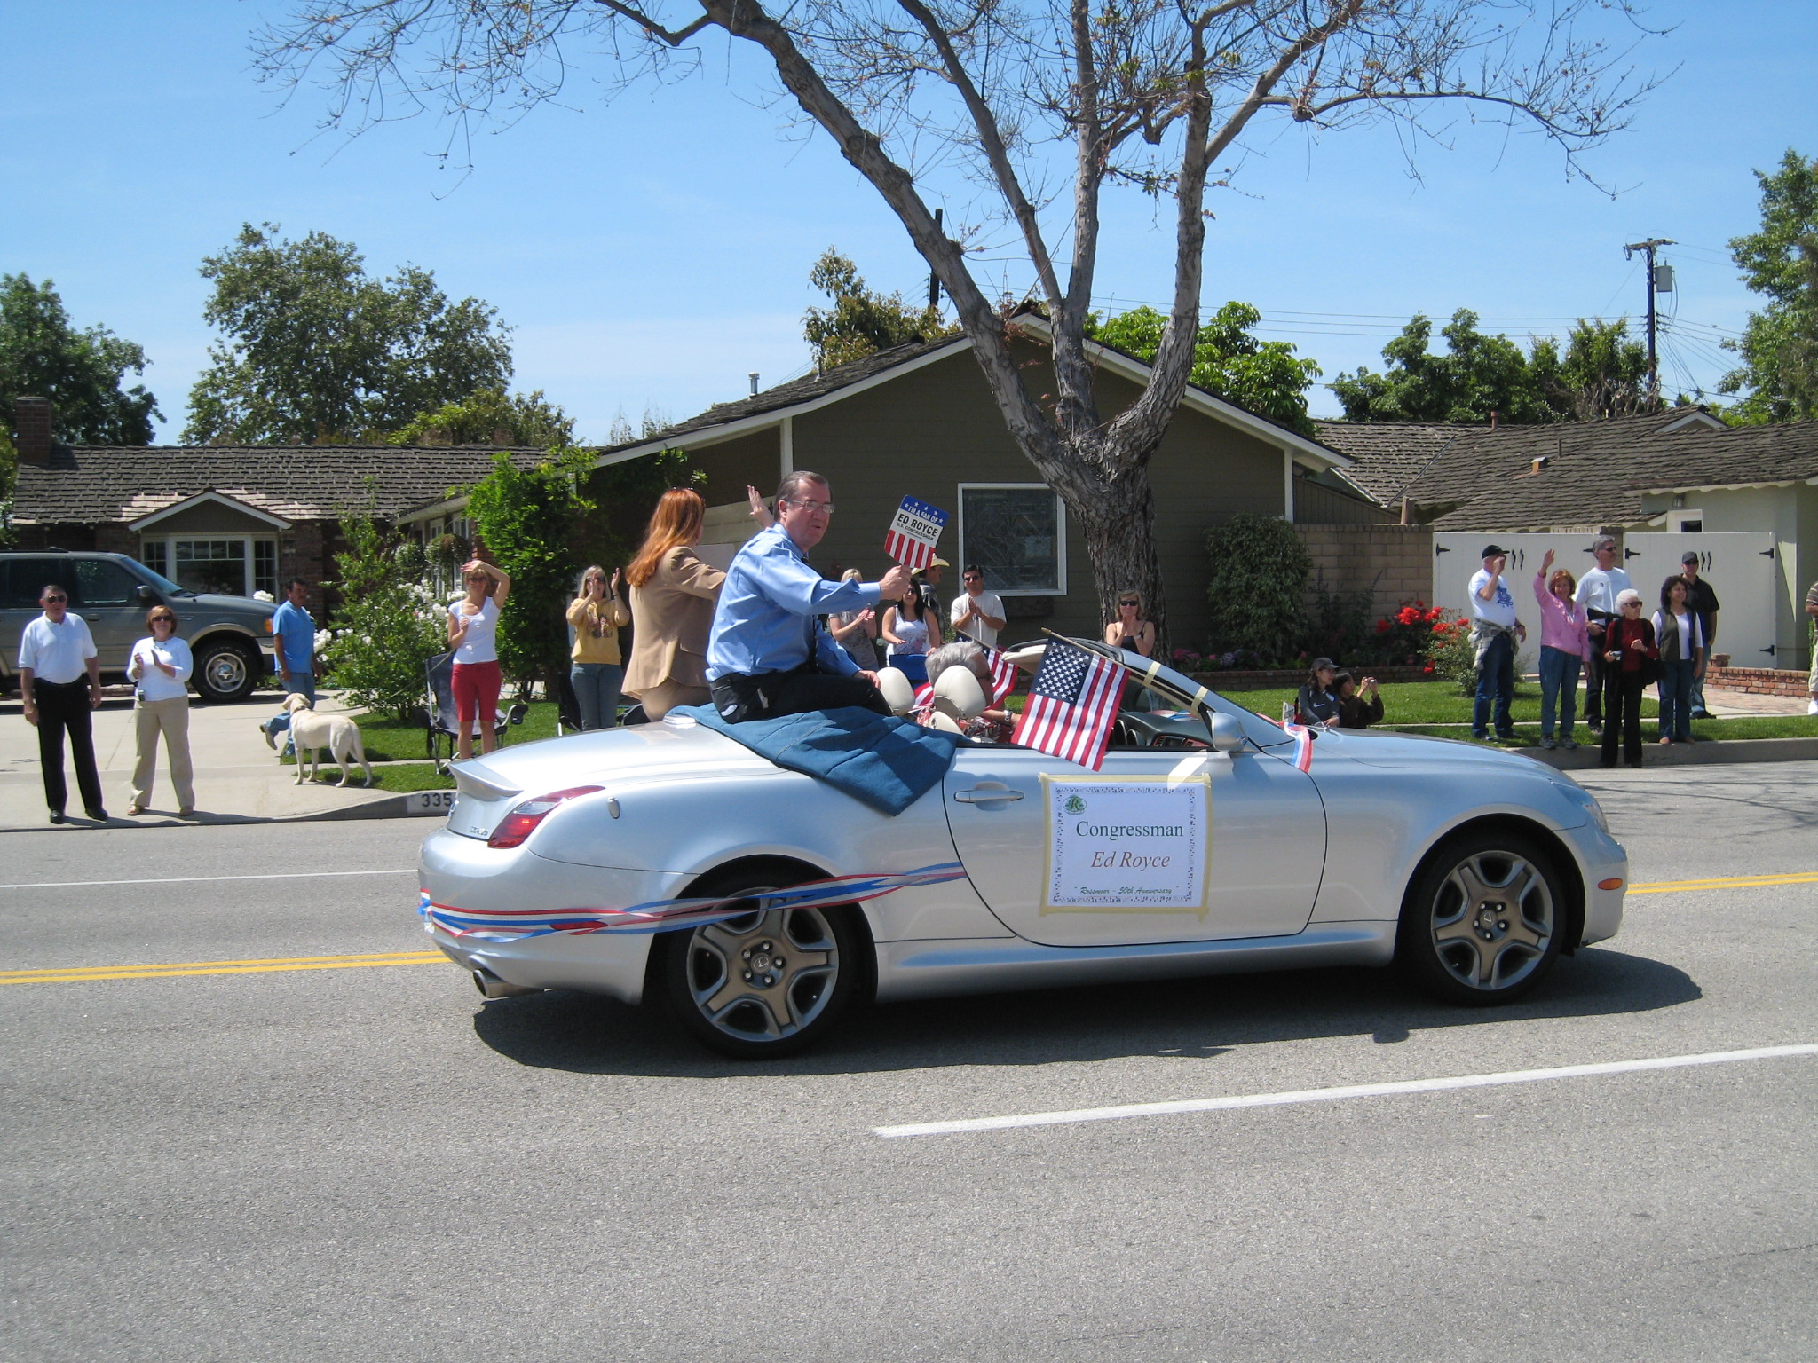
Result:
{"type": "Polygon", "coordinates": [[[335,554],[340,605],[322,662],[353,705],[409,716],[424,698],[424,662],[447,647],[444,607],[422,545],[373,520],[371,505],[342,512],[347,549],[335,554]]]}

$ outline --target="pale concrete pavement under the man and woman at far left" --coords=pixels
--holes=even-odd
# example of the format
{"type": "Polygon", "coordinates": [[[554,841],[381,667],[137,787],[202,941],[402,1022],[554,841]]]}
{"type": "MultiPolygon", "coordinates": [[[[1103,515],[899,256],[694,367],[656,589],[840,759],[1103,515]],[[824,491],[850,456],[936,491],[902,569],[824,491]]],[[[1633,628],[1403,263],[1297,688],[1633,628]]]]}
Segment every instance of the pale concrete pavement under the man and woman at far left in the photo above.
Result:
{"type": "MultiPolygon", "coordinates": [[[[324,714],[345,707],[333,696],[322,698],[324,714]]],[[[269,823],[273,820],[375,818],[402,812],[396,791],[365,791],[360,769],[353,785],[296,785],[296,769],[278,763],[265,747],[258,725],[278,712],[278,694],[260,691],[233,705],[189,705],[189,756],[196,771],[196,823],[269,823]]],[[[127,783],[133,778],[133,700],[125,687],[111,687],[95,712],[95,765],[102,774],[102,798],[115,827],[171,825],[176,798],[171,791],[165,754],[158,749],[158,774],[151,787],[151,809],[136,820],[125,818],[127,783]]],[[[333,763],[329,771],[335,771],[333,763]]],[[[376,771],[376,769],[375,769],[376,771]]],[[[95,827],[82,816],[75,769],[64,758],[69,781],[67,829],[95,827]]],[[[44,780],[38,771],[38,731],[25,723],[16,696],[0,700],[0,832],[49,829],[44,807],[44,780]]]]}

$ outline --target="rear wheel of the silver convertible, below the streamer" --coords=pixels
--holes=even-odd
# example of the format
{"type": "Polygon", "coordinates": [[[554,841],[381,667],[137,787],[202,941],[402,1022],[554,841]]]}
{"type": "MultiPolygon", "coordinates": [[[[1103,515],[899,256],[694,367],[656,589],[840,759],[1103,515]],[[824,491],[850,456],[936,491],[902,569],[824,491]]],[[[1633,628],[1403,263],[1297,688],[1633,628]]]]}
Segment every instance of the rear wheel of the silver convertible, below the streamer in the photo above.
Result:
{"type": "MultiPolygon", "coordinates": [[[[698,889],[738,896],[800,883],[754,874],[698,889]]],[[[851,909],[762,909],[665,934],[662,992],[682,1029],[736,1060],[793,1056],[820,1041],[858,992],[864,934],[851,909]]]]}

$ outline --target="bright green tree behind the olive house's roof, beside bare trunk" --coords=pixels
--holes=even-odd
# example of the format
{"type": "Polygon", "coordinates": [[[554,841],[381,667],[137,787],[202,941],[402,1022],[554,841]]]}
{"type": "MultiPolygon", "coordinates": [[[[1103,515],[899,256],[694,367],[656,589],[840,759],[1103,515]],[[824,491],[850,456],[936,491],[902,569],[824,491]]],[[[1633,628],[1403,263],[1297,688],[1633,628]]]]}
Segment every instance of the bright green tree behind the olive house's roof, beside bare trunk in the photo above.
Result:
{"type": "MultiPolygon", "coordinates": [[[[1307,418],[1307,389],[1320,376],[1313,360],[1296,360],[1287,342],[1256,340],[1251,329],[1262,322],[1249,303],[1231,302],[1200,327],[1193,347],[1189,382],[1213,396],[1234,402],[1258,416],[1269,416],[1304,434],[1313,434],[1307,418]]],[[[1153,307],[1133,307],[1113,318],[1087,318],[1085,334],[1138,360],[1154,360],[1162,349],[1167,318],[1153,307]]]]}

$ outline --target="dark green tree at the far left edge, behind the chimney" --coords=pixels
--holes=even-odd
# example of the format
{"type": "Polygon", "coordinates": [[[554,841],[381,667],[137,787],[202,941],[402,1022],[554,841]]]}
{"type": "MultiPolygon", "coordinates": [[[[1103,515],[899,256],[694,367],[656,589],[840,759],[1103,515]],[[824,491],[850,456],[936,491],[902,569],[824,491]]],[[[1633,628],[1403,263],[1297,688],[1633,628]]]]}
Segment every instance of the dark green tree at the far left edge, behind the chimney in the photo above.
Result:
{"type": "Polygon", "coordinates": [[[64,311],[51,280],[0,274],[0,418],[13,423],[13,400],[56,403],[53,434],[71,445],[149,445],[151,418],[164,416],[144,383],[145,351],[107,327],[82,331],[64,311]]]}

